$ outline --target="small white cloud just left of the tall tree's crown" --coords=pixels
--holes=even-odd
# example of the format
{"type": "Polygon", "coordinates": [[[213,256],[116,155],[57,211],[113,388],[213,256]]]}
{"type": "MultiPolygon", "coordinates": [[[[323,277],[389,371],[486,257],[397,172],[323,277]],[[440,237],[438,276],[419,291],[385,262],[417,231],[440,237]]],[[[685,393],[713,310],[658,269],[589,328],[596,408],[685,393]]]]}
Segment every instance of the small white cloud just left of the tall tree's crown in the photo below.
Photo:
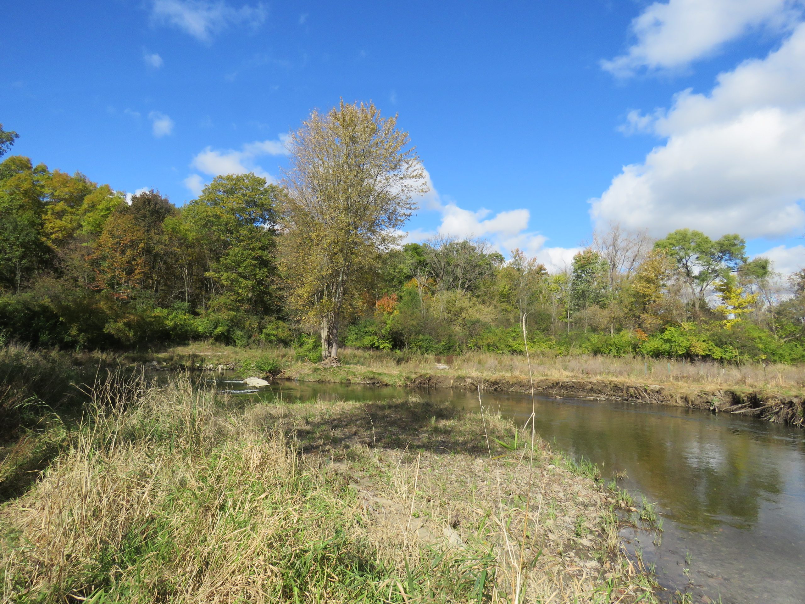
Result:
{"type": "MultiPolygon", "coordinates": [[[[221,174],[247,174],[248,172],[254,172],[257,176],[273,181],[275,178],[263,170],[254,160],[261,155],[287,155],[287,143],[287,134],[280,134],[278,140],[246,143],[240,151],[235,149],[218,150],[213,149],[213,147],[206,147],[204,151],[201,151],[192,159],[190,166],[213,177],[221,174]]],[[[188,176],[184,180],[184,184],[196,195],[201,188],[204,188],[204,181],[198,174],[188,176]]]]}

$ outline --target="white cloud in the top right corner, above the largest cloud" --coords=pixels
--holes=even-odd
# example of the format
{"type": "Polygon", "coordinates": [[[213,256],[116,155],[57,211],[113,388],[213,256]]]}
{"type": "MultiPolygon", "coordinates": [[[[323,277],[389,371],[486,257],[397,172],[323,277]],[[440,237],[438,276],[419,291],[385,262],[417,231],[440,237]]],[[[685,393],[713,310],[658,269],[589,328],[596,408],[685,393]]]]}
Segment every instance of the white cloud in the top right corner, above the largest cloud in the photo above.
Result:
{"type": "Polygon", "coordinates": [[[801,0],[668,0],[654,2],[630,26],[635,42],[601,67],[616,76],[639,68],[683,68],[758,27],[791,26],[801,0]]]}

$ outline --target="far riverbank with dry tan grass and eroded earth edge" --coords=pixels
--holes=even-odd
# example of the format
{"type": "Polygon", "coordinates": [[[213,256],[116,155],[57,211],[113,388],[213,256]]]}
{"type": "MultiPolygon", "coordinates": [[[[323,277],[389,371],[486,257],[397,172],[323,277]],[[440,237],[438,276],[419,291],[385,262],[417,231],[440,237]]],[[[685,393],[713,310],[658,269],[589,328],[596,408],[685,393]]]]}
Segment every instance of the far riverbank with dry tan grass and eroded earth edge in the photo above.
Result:
{"type": "MultiPolygon", "coordinates": [[[[341,366],[298,360],[290,349],[237,349],[217,345],[180,346],[155,354],[159,366],[207,366],[260,372],[274,361],[283,379],[398,387],[481,388],[530,392],[526,359],[465,354],[438,358],[345,350],[341,366]],[[437,368],[441,366],[442,368],[437,368]]],[[[805,428],[805,368],[801,366],[718,366],[712,363],[635,358],[555,357],[532,359],[538,395],[695,407],[737,413],[805,428]]]]}

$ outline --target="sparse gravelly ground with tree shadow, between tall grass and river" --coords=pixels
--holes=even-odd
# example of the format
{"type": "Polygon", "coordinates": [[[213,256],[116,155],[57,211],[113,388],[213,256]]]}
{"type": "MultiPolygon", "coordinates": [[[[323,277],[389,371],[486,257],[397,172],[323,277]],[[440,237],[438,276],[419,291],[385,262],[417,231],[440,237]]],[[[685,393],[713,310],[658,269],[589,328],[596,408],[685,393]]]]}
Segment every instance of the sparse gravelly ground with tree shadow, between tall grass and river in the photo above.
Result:
{"type": "MultiPolygon", "coordinates": [[[[356,491],[357,514],[378,548],[522,561],[525,602],[551,594],[596,602],[603,590],[613,590],[612,601],[654,602],[645,569],[621,556],[617,536],[614,511],[636,508],[543,441],[531,466],[530,435],[500,416],[481,420],[417,395],[253,413],[257,424],[283,425],[304,457],[356,491]]],[[[516,578],[497,581],[511,588],[516,578]]]]}

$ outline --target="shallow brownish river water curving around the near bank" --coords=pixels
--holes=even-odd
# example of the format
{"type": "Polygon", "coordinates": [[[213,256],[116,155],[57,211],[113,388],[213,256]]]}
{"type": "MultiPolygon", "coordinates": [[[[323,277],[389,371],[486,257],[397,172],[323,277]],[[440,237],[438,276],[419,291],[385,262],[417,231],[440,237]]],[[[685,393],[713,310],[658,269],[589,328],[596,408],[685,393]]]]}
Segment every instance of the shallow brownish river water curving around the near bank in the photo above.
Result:
{"type": "MultiPolygon", "coordinates": [[[[225,380],[233,380],[228,382],[225,380]]],[[[384,400],[390,387],[283,381],[242,391],[258,399],[384,400]]],[[[416,391],[423,399],[477,411],[477,393],[416,391]]],[[[525,423],[530,395],[483,392],[485,406],[525,423]]],[[[805,432],[761,420],[681,407],[581,399],[536,399],[539,436],[593,461],[602,478],[656,503],[662,539],[625,529],[630,552],[654,565],[658,582],[693,602],[805,602],[805,432]],[[624,476],[625,473],[625,476],[624,476]]]]}

